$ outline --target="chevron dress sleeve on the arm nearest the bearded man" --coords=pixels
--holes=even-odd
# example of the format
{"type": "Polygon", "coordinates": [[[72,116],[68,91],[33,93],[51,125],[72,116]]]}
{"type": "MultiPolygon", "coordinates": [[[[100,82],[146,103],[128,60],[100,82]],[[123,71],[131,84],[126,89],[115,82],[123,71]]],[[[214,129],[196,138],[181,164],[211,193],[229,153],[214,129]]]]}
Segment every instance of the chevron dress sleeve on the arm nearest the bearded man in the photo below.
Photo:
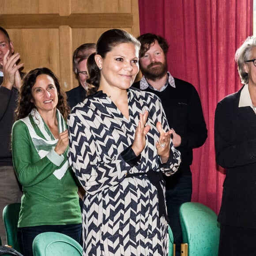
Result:
{"type": "MultiPolygon", "coordinates": [[[[158,97],[156,97],[156,113],[157,113],[157,121],[159,121],[162,124],[162,128],[164,131],[169,131],[169,124],[166,119],[166,114],[164,112],[164,109],[162,107],[162,103],[158,97]]],[[[169,160],[162,164],[161,159],[159,157],[158,159],[159,167],[161,171],[166,175],[170,176],[177,172],[180,164],[181,164],[181,153],[173,146],[173,141],[171,139],[170,141],[170,156],[169,160]]]]}

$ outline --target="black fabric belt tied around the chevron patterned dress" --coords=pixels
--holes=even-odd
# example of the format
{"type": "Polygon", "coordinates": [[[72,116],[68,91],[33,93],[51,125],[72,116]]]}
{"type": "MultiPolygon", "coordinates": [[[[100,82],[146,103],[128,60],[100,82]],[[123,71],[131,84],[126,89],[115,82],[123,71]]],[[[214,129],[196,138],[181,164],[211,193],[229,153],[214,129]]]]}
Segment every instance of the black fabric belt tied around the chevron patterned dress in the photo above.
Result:
{"type": "Polygon", "coordinates": [[[163,184],[165,183],[165,181],[163,179],[162,172],[155,172],[151,169],[147,173],[128,173],[125,177],[126,178],[137,177],[137,176],[142,176],[142,175],[147,175],[151,184],[153,184],[157,189],[159,218],[161,218],[162,215],[164,215],[166,221],[169,222],[169,219],[168,219],[167,213],[166,213],[166,207],[165,207],[166,203],[165,203],[164,192],[162,190],[161,183],[160,183],[161,181],[163,184]]]}

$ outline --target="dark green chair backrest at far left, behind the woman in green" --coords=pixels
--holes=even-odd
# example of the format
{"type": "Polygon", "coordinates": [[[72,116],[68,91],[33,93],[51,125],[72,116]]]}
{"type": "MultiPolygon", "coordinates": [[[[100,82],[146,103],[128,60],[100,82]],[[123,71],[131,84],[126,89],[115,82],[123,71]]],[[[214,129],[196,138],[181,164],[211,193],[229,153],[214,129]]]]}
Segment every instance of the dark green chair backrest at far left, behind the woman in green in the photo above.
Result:
{"type": "Polygon", "coordinates": [[[17,239],[20,206],[21,203],[11,203],[5,206],[3,211],[7,244],[11,245],[18,252],[20,252],[17,239]]]}

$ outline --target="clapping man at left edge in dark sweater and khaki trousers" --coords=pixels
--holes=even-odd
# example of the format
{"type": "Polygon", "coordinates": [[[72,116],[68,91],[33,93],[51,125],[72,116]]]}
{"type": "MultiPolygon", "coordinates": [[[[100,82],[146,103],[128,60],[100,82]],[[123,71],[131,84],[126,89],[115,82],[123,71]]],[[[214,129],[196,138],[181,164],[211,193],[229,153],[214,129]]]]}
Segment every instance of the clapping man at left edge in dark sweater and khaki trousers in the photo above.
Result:
{"type": "Polygon", "coordinates": [[[11,128],[17,106],[21,77],[16,64],[19,53],[14,53],[7,31],[0,27],[0,237],[6,244],[3,209],[7,204],[20,202],[22,191],[16,178],[11,156],[11,128]]]}

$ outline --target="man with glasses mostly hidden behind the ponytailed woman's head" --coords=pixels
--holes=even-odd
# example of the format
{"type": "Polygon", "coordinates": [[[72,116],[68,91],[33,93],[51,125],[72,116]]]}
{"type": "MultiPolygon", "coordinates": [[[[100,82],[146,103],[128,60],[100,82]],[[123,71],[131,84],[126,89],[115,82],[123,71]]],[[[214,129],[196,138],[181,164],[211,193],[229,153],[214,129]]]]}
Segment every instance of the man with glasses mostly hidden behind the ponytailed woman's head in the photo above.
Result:
{"type": "Polygon", "coordinates": [[[79,102],[83,102],[86,98],[86,79],[88,78],[87,59],[90,54],[95,52],[95,50],[96,45],[94,43],[88,43],[80,45],[73,53],[73,71],[79,81],[79,86],[66,92],[68,96],[68,104],[71,108],[79,102]]]}

